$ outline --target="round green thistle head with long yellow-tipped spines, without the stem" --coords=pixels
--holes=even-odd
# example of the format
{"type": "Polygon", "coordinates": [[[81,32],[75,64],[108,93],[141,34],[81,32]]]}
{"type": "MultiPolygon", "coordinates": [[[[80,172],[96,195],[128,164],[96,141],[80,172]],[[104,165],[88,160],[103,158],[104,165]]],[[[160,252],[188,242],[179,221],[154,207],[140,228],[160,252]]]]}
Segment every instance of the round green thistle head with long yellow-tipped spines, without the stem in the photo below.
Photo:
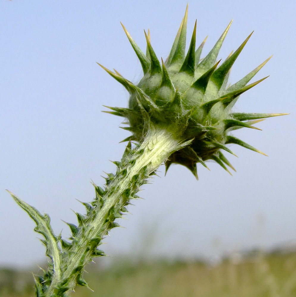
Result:
{"type": "Polygon", "coordinates": [[[253,124],[264,118],[283,114],[231,111],[240,94],[265,79],[248,84],[270,58],[237,83],[228,86],[230,69],[253,32],[223,63],[220,63],[221,60],[217,62],[230,23],[212,50],[200,61],[206,40],[195,49],[196,22],[189,50],[185,53],[187,9],[188,5],[173,47],[165,61],[159,61],[157,58],[151,46],[149,30],[148,35],[144,31],[147,41],[144,54],[122,25],[142,65],[144,76],[137,85],[123,78],[116,70],[112,72],[102,67],[130,93],[128,108],[109,107],[112,110],[109,113],[128,119],[129,127],[124,129],[131,131],[132,135],[125,140],[141,143],[151,125],[169,129],[176,138],[183,141],[191,140],[187,146],[171,154],[165,165],[166,170],[172,163],[184,165],[197,178],[196,164],[201,163],[207,167],[205,161],[209,159],[216,161],[228,172],[225,165],[234,170],[222,153],[227,151],[234,154],[226,146],[229,143],[264,154],[235,138],[230,132],[242,127],[260,130],[253,124]]]}

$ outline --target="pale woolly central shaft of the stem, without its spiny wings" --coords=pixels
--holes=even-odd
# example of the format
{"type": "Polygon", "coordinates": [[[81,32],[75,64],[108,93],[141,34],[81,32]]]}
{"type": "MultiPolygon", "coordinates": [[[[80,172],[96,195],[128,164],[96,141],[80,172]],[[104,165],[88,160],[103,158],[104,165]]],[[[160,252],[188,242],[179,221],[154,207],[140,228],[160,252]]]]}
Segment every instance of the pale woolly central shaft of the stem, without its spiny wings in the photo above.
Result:
{"type": "MultiPolygon", "coordinates": [[[[165,162],[172,152],[180,149],[182,146],[181,141],[176,139],[174,133],[168,129],[149,128],[143,143],[128,156],[134,162],[129,162],[118,170],[112,181],[107,184],[102,197],[104,200],[103,206],[98,211],[95,211],[95,216],[89,224],[83,226],[83,231],[80,226],[79,233],[73,240],[75,244],[71,249],[71,258],[68,258],[68,263],[64,266],[65,270],[62,277],[60,279],[53,278],[56,282],[51,283],[49,291],[53,293],[54,288],[60,287],[63,283],[67,283],[68,292],[75,287],[77,267],[84,267],[92,258],[91,251],[88,249],[90,241],[93,238],[103,238],[108,232],[106,223],[110,211],[114,208],[121,210],[126,205],[122,201],[124,192],[135,187],[136,191],[134,190],[133,194],[139,191],[139,185],[144,184],[149,175],[165,162]],[[124,177],[121,175],[123,170],[126,170],[124,177]],[[141,174],[143,170],[145,171],[144,175],[141,174]]],[[[130,198],[134,197],[130,196],[130,198]]],[[[48,296],[52,296],[51,293],[48,296]]]]}

